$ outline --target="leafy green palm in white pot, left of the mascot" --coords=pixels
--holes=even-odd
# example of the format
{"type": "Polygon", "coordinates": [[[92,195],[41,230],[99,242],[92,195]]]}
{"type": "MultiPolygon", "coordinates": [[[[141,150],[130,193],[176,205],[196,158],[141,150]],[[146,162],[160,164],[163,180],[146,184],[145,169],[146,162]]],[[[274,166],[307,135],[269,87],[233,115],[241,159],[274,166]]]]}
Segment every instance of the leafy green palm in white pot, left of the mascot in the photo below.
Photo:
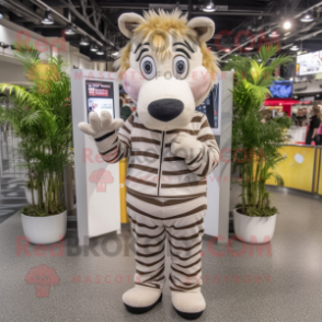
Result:
{"type": "Polygon", "coordinates": [[[30,44],[19,44],[16,49],[25,71],[32,67],[33,85],[27,90],[0,84],[0,93],[12,102],[10,108],[0,107],[0,122],[11,122],[21,139],[19,166],[26,169],[31,194],[31,205],[21,210],[24,234],[33,243],[53,243],[65,237],[67,227],[62,171],[72,163],[70,78],[60,56],[44,62],[30,44]],[[46,76],[44,66],[50,66],[46,76]]]}

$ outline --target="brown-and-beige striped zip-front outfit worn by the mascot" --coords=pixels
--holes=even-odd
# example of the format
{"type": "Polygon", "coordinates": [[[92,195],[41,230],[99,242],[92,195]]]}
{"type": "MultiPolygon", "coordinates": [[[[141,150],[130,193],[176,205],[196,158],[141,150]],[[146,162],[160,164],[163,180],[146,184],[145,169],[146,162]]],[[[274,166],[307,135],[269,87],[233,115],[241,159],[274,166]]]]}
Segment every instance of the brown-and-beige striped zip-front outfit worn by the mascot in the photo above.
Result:
{"type": "Polygon", "coordinates": [[[207,117],[195,112],[186,127],[165,133],[146,128],[134,113],[118,133],[95,140],[106,162],[129,158],[126,186],[127,210],[136,240],[135,283],[162,289],[168,237],[171,289],[199,291],[206,175],[219,160],[207,117]],[[203,143],[193,160],[188,151],[185,159],[171,152],[171,142],[181,131],[203,143]]]}

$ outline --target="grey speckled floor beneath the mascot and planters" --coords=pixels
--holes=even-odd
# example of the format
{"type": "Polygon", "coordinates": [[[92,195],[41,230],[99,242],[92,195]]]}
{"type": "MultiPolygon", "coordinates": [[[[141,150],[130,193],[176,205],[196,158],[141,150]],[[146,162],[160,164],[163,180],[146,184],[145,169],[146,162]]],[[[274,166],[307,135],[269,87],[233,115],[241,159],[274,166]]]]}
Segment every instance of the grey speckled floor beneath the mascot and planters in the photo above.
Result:
{"type": "MultiPolygon", "coordinates": [[[[232,196],[237,195],[234,187],[232,196]]],[[[267,255],[267,248],[258,254],[256,249],[234,241],[230,246],[214,245],[219,256],[209,252],[209,242],[204,241],[207,309],[198,321],[321,322],[322,203],[276,192],[273,202],[280,214],[272,255],[267,255]]],[[[128,230],[120,237],[94,239],[83,249],[76,246],[70,231],[61,253],[58,248],[23,250],[19,241],[22,234],[18,215],[0,225],[1,322],[184,321],[172,308],[168,285],[163,301],[149,313],[131,315],[125,311],[122,294],[131,287],[135,271],[128,230]],[[53,274],[39,265],[54,268],[53,274]],[[33,267],[39,267],[36,275],[50,276],[48,294],[33,284],[28,275],[33,267]]]]}

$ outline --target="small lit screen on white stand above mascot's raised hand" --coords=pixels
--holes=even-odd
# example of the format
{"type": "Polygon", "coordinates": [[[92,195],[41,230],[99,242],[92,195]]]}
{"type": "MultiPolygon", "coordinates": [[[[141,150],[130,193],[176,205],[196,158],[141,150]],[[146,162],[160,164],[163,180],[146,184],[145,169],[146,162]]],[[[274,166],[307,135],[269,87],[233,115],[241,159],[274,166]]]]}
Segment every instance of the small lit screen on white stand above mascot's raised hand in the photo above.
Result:
{"type": "Polygon", "coordinates": [[[113,82],[87,81],[87,104],[88,115],[96,112],[101,115],[102,111],[114,113],[114,88],[113,82]]]}

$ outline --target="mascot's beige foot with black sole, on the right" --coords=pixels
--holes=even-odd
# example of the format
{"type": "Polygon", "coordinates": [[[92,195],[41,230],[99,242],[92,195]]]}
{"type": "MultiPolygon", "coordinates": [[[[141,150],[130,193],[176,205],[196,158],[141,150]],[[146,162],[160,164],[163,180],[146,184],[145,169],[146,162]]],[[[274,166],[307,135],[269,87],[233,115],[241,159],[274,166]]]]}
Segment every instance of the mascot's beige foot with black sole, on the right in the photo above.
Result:
{"type": "Polygon", "coordinates": [[[176,313],[186,320],[198,319],[206,309],[206,302],[200,292],[172,291],[171,297],[176,313]]]}

